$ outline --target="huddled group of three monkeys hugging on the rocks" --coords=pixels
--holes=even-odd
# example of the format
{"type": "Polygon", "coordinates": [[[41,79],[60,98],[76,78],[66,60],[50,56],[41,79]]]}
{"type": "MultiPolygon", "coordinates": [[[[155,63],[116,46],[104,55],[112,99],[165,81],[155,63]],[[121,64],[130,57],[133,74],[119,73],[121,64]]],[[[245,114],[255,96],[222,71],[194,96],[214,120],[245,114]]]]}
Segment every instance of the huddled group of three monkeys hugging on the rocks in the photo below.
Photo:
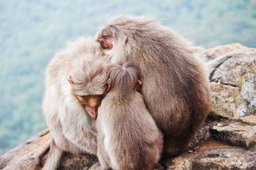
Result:
{"type": "Polygon", "coordinates": [[[158,20],[122,16],[56,53],[45,71],[43,169],[63,152],[97,154],[102,169],[152,169],[183,152],[211,110],[196,50],[158,20]]]}

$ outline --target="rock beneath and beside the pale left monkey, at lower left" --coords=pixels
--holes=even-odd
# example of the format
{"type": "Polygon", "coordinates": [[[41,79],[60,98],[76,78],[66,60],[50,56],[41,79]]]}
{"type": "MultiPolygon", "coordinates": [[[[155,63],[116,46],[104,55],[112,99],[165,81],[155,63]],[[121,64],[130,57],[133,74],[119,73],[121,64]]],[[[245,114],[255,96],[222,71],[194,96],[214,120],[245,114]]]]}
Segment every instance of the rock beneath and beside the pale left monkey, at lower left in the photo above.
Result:
{"type": "MultiPolygon", "coordinates": [[[[40,149],[51,140],[49,130],[40,132],[35,137],[29,139],[10,152],[4,153],[0,157],[0,169],[13,170],[13,169],[40,169],[35,166],[35,157],[40,149]]],[[[43,163],[46,159],[45,155],[43,163]]],[[[61,158],[59,170],[61,169],[92,169],[97,170],[99,163],[97,157],[89,154],[71,155],[66,153],[61,158]],[[97,166],[98,164],[98,166],[97,166]]]]}

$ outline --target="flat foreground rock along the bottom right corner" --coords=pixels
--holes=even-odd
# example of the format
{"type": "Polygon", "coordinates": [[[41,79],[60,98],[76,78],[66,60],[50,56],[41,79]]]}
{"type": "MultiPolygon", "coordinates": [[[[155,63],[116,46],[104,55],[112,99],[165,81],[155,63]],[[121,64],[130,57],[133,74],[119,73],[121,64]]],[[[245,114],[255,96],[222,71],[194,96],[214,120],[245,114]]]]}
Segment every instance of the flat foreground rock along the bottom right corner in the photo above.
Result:
{"type": "Polygon", "coordinates": [[[255,152],[216,148],[180,155],[166,169],[256,169],[255,152]]]}

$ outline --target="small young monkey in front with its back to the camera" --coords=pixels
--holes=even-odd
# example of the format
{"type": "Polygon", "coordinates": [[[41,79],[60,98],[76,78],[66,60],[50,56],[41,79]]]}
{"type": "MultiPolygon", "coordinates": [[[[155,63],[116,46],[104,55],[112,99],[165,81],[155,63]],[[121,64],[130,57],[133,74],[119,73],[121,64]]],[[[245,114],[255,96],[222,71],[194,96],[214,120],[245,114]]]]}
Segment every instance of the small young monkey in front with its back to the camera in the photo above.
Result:
{"type": "Polygon", "coordinates": [[[159,160],[163,136],[137,92],[140,86],[131,62],[109,67],[109,92],[96,120],[101,169],[151,170],[159,160]]]}

